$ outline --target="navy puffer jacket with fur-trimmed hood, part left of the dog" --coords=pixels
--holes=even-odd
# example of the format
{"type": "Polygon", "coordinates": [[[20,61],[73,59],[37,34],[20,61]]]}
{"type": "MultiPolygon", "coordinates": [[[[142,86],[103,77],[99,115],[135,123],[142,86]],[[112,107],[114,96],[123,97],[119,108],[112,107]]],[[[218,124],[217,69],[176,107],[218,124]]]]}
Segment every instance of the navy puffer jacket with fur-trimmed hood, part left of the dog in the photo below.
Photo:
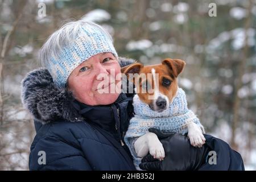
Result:
{"type": "MultiPolygon", "coordinates": [[[[121,67],[133,62],[119,60],[121,67]]],[[[111,105],[88,106],[56,88],[47,69],[28,73],[22,102],[34,116],[36,129],[30,170],[135,170],[122,142],[133,117],[132,98],[121,93],[111,105]]]]}

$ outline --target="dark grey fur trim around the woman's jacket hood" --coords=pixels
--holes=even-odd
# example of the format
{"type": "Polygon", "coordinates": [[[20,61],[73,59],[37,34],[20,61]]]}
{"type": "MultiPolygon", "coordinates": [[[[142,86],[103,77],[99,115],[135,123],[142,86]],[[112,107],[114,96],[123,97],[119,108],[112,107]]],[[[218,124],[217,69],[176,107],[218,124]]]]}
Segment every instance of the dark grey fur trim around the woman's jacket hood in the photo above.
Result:
{"type": "MultiPolygon", "coordinates": [[[[133,64],[133,59],[119,57],[121,67],[133,64]]],[[[58,88],[46,68],[34,69],[22,80],[21,100],[34,116],[43,124],[65,120],[82,121],[82,116],[73,107],[75,98],[67,89],[58,88]]]]}

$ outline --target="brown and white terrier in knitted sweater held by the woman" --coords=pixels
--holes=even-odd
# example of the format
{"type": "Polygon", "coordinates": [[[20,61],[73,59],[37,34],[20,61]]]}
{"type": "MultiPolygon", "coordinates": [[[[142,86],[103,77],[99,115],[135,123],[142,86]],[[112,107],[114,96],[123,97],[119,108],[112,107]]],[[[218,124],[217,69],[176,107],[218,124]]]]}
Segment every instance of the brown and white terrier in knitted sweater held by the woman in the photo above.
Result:
{"type": "Polygon", "coordinates": [[[135,116],[125,135],[137,169],[148,152],[159,160],[165,156],[162,143],[156,134],[148,132],[149,128],[188,133],[188,139],[195,147],[205,143],[204,127],[188,109],[185,92],[177,84],[177,76],[184,67],[183,60],[165,59],[162,64],[144,66],[134,63],[121,70],[128,80],[133,81],[137,93],[133,98],[135,116]]]}

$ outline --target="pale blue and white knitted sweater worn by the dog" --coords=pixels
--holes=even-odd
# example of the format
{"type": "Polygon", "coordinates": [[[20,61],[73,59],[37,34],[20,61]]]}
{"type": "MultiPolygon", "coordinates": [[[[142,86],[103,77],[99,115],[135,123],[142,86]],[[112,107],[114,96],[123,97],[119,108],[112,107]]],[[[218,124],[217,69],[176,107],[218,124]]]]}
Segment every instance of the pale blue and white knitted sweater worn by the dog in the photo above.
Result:
{"type": "Polygon", "coordinates": [[[129,147],[134,158],[134,165],[138,170],[141,158],[136,155],[134,150],[135,139],[148,133],[148,129],[155,128],[164,132],[185,134],[188,132],[186,124],[195,122],[204,132],[204,127],[199,119],[187,107],[187,100],[183,89],[178,88],[176,97],[162,113],[151,110],[150,107],[139,100],[136,94],[133,98],[135,116],[131,118],[129,128],[125,135],[125,143],[129,147]]]}

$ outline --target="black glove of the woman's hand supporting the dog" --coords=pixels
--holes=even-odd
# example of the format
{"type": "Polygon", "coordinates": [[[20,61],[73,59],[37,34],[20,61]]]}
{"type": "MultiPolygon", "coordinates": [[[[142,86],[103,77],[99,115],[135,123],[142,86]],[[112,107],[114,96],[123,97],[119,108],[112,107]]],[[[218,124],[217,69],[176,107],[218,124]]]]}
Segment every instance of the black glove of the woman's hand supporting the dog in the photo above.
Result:
{"type": "Polygon", "coordinates": [[[163,133],[158,129],[148,129],[155,133],[163,144],[165,158],[160,161],[150,154],[144,156],[139,167],[144,170],[196,170],[204,162],[208,151],[206,147],[191,146],[187,136],[163,133]]]}

